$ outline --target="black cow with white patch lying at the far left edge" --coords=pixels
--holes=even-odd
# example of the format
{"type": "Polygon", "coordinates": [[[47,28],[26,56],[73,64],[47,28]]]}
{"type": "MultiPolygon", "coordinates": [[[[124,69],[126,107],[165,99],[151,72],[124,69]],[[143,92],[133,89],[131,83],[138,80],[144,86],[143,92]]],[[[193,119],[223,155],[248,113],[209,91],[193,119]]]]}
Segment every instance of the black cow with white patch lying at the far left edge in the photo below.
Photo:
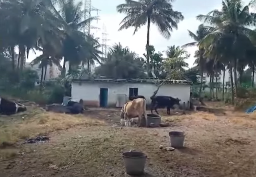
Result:
{"type": "Polygon", "coordinates": [[[0,97],[0,114],[9,116],[26,110],[26,106],[0,97]]]}

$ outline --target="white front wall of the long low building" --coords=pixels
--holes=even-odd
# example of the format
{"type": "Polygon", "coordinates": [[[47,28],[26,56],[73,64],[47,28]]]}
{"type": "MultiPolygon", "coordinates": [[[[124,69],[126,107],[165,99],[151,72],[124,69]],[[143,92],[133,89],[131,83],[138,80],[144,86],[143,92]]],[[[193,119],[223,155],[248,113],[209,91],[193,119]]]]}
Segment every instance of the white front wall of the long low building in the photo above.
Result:
{"type": "MultiPolygon", "coordinates": [[[[145,96],[147,104],[150,104],[150,96],[156,90],[156,85],[148,83],[85,83],[72,82],[72,99],[83,99],[85,104],[99,106],[100,88],[108,88],[108,105],[115,106],[118,94],[126,94],[129,97],[129,88],[138,88],[138,95],[145,96]]],[[[172,96],[187,103],[190,100],[190,85],[162,85],[157,95],[172,96]]]]}

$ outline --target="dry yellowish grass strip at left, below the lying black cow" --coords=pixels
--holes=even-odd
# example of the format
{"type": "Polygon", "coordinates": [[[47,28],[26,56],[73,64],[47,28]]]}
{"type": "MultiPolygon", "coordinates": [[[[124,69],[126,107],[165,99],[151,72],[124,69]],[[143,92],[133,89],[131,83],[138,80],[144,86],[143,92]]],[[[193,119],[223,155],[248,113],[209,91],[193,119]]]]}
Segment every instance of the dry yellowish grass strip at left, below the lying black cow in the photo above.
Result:
{"type": "MultiPolygon", "coordinates": [[[[97,126],[104,124],[104,121],[84,115],[58,114],[42,109],[30,110],[26,116],[24,114],[15,116],[19,116],[20,119],[16,118],[16,121],[0,126],[0,146],[78,125],[97,126]]],[[[5,118],[8,119],[8,117],[5,118]]]]}

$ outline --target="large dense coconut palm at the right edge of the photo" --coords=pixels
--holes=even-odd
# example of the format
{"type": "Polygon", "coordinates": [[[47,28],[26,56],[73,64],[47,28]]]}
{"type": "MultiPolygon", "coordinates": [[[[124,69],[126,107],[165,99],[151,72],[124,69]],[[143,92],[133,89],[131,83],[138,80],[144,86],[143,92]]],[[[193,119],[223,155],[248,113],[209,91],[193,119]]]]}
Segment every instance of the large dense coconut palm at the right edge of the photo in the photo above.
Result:
{"type": "MultiPolygon", "coordinates": [[[[207,15],[197,16],[198,20],[210,24],[214,30],[204,37],[202,45],[206,47],[222,45],[218,51],[225,55],[230,61],[230,78],[233,79],[237,90],[237,63],[238,60],[244,60],[248,50],[253,49],[250,36],[256,36],[250,26],[256,25],[256,14],[249,13],[249,8],[256,5],[256,1],[251,1],[248,5],[242,6],[242,0],[223,0],[221,10],[213,10],[207,15]]],[[[233,88],[233,82],[231,82],[233,88]]],[[[232,102],[234,103],[234,90],[232,89],[232,102]]]]}

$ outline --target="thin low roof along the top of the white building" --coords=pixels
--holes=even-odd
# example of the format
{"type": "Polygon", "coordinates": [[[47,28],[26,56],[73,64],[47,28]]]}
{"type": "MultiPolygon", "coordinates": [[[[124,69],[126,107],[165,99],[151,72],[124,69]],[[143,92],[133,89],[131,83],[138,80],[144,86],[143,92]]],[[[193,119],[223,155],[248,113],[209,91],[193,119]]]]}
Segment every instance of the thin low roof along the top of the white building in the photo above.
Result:
{"type": "MultiPolygon", "coordinates": [[[[83,81],[83,82],[107,82],[107,83],[153,83],[160,84],[165,79],[157,79],[157,78],[148,78],[148,79],[109,79],[109,78],[100,78],[100,79],[73,79],[73,82],[83,81]]],[[[191,85],[191,81],[187,80],[173,80],[167,79],[164,84],[186,84],[191,85]]]]}

